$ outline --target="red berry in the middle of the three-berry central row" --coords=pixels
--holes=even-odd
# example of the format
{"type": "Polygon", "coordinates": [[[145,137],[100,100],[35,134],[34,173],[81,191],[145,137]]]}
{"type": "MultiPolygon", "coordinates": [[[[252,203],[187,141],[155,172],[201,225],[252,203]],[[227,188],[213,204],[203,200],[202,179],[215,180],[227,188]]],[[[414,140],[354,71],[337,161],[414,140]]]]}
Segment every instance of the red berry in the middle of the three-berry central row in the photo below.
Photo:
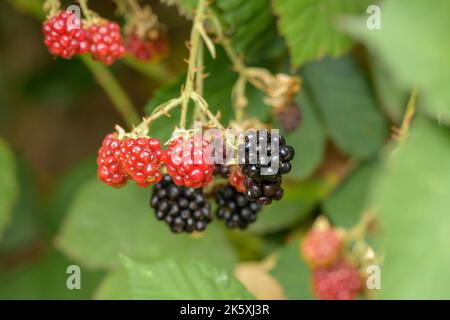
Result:
{"type": "Polygon", "coordinates": [[[128,175],[140,187],[148,187],[161,180],[164,152],[155,138],[129,138],[120,146],[120,160],[128,175]]]}

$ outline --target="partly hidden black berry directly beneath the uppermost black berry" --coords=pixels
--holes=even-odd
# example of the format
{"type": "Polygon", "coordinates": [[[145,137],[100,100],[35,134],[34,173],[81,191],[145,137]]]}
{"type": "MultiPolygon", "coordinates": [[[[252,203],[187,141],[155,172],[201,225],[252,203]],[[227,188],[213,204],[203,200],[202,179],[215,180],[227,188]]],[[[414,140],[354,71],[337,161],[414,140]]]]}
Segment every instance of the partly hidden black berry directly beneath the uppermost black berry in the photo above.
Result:
{"type": "Polygon", "coordinates": [[[244,179],[244,186],[247,188],[245,195],[247,199],[255,201],[261,205],[268,205],[272,200],[281,200],[284,190],[281,187],[281,178],[278,181],[256,181],[251,178],[244,179]]]}

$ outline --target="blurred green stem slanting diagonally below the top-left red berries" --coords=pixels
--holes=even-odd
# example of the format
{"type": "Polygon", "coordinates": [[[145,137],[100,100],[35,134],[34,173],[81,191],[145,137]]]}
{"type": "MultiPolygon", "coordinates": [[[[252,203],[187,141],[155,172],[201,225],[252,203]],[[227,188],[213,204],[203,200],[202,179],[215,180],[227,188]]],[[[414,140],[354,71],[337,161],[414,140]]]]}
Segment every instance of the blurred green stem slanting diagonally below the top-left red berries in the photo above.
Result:
{"type": "Polygon", "coordinates": [[[136,108],[114,75],[106,67],[93,61],[88,56],[81,56],[81,59],[89,70],[91,70],[126,123],[129,126],[139,123],[139,115],[136,108]]]}

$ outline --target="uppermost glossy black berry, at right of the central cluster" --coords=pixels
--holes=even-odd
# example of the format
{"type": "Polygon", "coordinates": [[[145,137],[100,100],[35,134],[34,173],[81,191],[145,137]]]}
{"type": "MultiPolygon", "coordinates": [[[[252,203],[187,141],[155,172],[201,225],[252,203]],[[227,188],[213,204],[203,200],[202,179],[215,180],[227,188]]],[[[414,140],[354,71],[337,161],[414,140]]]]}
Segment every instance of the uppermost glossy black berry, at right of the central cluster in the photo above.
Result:
{"type": "Polygon", "coordinates": [[[290,161],[294,158],[295,150],[279,134],[252,130],[246,133],[245,142],[238,146],[238,153],[239,164],[246,177],[258,182],[276,182],[282,174],[291,171],[290,161]],[[272,150],[273,147],[275,150],[272,150]]]}

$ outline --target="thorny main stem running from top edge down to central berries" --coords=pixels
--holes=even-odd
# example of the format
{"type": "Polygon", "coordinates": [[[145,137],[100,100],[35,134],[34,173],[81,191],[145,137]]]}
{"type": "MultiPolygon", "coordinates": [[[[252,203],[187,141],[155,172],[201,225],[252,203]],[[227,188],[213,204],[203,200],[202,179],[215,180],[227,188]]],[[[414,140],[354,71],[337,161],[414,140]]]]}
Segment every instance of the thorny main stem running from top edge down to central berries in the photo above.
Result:
{"type": "Polygon", "coordinates": [[[203,23],[203,18],[205,15],[207,2],[206,0],[199,0],[197,12],[195,14],[194,23],[192,25],[191,30],[191,41],[190,41],[190,55],[188,62],[188,71],[186,76],[186,83],[184,85],[184,90],[182,94],[182,103],[181,103],[181,119],[180,119],[180,127],[182,129],[186,128],[186,115],[189,105],[189,100],[192,95],[193,86],[194,86],[194,78],[196,73],[196,60],[199,49],[199,44],[201,40],[200,32],[198,26],[203,23]]]}

